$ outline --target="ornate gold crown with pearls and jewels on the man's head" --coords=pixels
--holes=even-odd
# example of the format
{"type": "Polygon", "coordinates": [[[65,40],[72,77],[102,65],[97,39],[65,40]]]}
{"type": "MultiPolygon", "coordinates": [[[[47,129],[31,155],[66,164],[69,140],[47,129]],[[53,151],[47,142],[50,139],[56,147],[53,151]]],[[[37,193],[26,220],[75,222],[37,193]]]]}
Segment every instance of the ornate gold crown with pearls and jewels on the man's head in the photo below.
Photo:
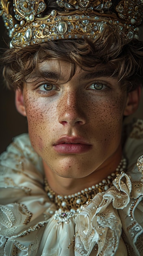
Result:
{"type": "Polygon", "coordinates": [[[121,37],[138,38],[142,0],[55,1],[57,9],[51,10],[44,0],[1,0],[0,15],[9,31],[10,47],[59,39],[94,39],[107,26],[121,37]]]}

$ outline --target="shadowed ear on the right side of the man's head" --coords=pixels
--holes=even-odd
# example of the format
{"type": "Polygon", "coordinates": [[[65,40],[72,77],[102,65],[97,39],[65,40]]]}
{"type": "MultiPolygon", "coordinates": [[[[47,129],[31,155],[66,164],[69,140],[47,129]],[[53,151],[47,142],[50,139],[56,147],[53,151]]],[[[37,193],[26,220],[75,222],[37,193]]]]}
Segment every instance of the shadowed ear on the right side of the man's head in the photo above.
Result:
{"type": "Polygon", "coordinates": [[[139,99],[141,96],[141,87],[138,86],[135,90],[128,92],[127,102],[124,110],[124,116],[133,114],[139,107],[139,99]]]}

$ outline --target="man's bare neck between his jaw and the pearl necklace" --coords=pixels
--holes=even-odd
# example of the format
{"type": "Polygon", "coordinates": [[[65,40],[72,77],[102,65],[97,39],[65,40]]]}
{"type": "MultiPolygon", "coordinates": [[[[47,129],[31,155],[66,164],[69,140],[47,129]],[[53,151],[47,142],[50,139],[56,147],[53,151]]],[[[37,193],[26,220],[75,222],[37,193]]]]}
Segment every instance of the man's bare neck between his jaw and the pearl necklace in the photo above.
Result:
{"type": "Polygon", "coordinates": [[[121,161],[121,147],[118,152],[104,161],[95,171],[90,175],[82,178],[65,178],[56,175],[49,166],[43,162],[45,170],[45,177],[49,186],[56,194],[69,195],[88,188],[115,172],[119,162],[121,161]]]}

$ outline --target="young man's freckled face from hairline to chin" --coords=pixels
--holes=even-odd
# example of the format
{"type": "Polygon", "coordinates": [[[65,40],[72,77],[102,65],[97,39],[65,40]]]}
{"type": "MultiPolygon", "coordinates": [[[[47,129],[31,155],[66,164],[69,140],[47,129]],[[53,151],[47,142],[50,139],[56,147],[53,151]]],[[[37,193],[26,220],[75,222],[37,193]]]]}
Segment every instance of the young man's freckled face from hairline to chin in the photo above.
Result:
{"type": "Polygon", "coordinates": [[[108,67],[92,72],[56,60],[40,64],[24,84],[30,141],[49,170],[62,177],[85,177],[121,154],[126,92],[108,67]],[[36,81],[35,81],[36,79],[36,81]]]}

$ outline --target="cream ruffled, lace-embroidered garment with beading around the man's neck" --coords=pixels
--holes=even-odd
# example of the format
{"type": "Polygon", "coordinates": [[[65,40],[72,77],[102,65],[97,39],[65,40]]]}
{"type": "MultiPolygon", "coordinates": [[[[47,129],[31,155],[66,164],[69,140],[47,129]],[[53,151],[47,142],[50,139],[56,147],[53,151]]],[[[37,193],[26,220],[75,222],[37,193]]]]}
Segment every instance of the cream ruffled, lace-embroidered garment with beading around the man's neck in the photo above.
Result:
{"type": "Polygon", "coordinates": [[[28,135],[16,137],[0,157],[0,256],[142,256],[143,183],[136,162],[143,121],[134,127],[124,148],[128,172],[59,225],[43,189],[41,158],[28,135]]]}

